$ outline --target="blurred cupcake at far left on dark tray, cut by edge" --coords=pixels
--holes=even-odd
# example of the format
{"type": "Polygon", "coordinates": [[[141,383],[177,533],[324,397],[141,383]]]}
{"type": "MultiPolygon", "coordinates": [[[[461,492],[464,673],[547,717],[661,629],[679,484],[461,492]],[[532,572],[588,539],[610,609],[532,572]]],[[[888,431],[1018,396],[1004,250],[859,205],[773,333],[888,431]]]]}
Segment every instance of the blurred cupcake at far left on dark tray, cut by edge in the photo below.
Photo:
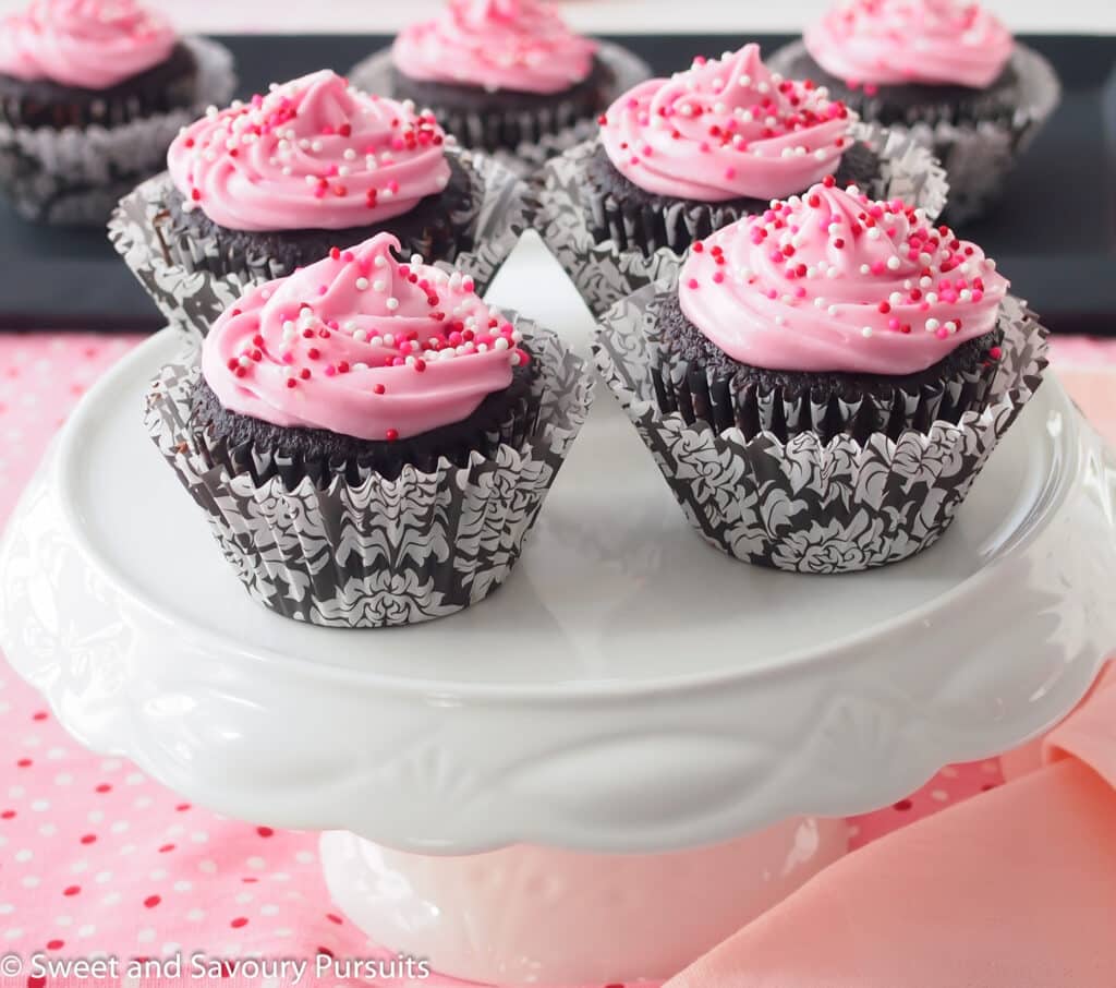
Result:
{"type": "Polygon", "coordinates": [[[0,193],[31,220],[104,223],[229,98],[231,64],[132,0],[35,0],[0,22],[0,193]]]}

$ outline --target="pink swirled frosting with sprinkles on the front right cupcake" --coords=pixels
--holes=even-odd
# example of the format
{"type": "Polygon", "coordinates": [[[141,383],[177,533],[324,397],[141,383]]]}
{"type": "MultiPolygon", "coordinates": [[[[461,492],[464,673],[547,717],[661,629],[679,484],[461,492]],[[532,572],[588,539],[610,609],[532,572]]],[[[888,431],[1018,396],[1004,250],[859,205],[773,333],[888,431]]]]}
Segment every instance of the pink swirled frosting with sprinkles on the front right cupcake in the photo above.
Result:
{"type": "Polygon", "coordinates": [[[894,376],[992,330],[1007,290],[949,227],[827,180],[695,243],[679,301],[740,363],[894,376]]]}

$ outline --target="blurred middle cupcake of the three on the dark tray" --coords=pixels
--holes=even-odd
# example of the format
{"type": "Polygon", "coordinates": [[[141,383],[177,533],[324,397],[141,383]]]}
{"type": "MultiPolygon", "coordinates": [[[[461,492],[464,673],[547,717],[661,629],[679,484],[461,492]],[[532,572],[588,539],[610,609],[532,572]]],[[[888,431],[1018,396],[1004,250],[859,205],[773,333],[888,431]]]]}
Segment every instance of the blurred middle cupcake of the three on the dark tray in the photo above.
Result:
{"type": "Polygon", "coordinates": [[[587,136],[616,94],[647,75],[629,52],[570,31],[540,0],[450,0],[401,31],[389,57],[353,71],[431,107],[463,145],[525,166],[587,136]]]}

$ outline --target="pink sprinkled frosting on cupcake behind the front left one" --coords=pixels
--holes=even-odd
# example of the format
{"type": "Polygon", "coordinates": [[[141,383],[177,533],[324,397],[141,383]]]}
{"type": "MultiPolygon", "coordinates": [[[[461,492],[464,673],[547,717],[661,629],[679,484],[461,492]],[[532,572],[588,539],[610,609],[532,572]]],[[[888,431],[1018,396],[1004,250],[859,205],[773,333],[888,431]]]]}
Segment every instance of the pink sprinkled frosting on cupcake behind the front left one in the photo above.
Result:
{"type": "Polygon", "coordinates": [[[411,103],[323,70],[210,114],[171,145],[187,210],[232,230],[343,230],[413,209],[450,181],[445,135],[411,103]]]}

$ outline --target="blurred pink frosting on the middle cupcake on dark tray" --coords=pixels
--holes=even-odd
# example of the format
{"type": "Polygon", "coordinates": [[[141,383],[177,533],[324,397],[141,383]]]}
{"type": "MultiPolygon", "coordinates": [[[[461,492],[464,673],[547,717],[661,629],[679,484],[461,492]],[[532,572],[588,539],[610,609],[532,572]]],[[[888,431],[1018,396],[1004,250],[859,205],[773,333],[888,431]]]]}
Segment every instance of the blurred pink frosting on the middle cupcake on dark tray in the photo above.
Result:
{"type": "Polygon", "coordinates": [[[589,75],[596,50],[539,0],[450,0],[441,17],[402,30],[392,54],[412,79],[560,93],[589,75]]]}

